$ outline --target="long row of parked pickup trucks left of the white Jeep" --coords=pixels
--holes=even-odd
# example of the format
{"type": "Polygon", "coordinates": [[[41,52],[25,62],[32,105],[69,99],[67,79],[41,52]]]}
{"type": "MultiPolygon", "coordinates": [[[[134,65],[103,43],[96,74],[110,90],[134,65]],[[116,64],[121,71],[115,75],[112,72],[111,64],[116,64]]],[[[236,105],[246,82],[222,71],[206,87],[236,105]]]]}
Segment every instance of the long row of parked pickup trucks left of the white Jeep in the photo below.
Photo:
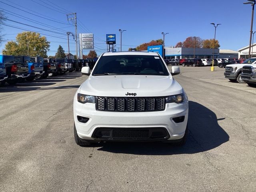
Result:
{"type": "Polygon", "coordinates": [[[0,86],[5,82],[16,84],[24,80],[47,78],[66,72],[80,71],[95,64],[94,59],[42,58],[0,55],[0,86]]]}

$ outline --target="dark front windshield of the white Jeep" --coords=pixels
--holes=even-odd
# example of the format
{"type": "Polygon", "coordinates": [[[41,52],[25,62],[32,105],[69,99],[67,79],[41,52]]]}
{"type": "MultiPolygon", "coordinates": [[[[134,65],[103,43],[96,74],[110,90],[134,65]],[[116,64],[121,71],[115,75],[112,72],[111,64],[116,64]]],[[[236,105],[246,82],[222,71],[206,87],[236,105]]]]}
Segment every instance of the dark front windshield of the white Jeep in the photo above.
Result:
{"type": "Polygon", "coordinates": [[[168,76],[168,70],[159,56],[115,55],[102,56],[92,75],[161,75],[168,76]]]}

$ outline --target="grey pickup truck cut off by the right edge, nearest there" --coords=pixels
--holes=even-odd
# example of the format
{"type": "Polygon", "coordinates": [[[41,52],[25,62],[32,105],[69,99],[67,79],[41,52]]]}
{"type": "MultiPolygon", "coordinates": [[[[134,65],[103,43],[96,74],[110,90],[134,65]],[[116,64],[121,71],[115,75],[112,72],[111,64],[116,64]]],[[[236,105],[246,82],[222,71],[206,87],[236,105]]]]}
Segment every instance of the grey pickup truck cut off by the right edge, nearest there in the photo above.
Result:
{"type": "Polygon", "coordinates": [[[256,63],[242,67],[241,78],[248,86],[256,86],[256,63]]]}

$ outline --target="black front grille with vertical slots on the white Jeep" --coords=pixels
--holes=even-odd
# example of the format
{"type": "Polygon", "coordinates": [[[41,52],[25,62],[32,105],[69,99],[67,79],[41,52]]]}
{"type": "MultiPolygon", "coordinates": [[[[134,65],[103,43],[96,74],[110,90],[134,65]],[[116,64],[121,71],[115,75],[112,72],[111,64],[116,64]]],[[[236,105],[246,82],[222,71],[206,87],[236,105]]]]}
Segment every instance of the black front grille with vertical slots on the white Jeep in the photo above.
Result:
{"type": "Polygon", "coordinates": [[[129,97],[96,97],[96,110],[115,112],[144,112],[162,111],[165,109],[165,99],[155,98],[129,98],[129,97]]]}

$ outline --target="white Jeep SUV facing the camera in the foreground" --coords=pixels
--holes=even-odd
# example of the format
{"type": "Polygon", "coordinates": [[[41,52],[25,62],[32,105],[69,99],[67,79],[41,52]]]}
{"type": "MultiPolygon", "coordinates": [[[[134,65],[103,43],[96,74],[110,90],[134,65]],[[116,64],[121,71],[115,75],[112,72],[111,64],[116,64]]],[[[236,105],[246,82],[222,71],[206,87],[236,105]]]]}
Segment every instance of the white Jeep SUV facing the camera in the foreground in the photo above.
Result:
{"type": "Polygon", "coordinates": [[[106,52],[74,96],[76,144],[164,141],[182,145],[188,134],[188,98],[155,52],[106,52]],[[125,60],[126,65],[120,61],[125,60]]]}

